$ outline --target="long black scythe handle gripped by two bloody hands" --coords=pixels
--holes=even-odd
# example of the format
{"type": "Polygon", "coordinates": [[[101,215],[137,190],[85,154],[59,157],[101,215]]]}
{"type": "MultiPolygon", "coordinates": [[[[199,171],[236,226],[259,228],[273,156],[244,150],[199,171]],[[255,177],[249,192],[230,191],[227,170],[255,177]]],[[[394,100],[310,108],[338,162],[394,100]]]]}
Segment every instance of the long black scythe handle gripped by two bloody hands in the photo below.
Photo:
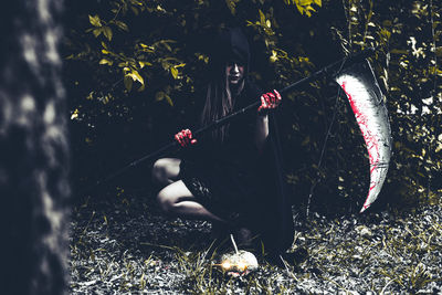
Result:
{"type": "MultiPolygon", "coordinates": [[[[322,70],[313,73],[308,77],[302,78],[302,80],[299,80],[299,81],[297,81],[297,82],[295,82],[295,83],[282,88],[280,91],[280,94],[283,95],[284,93],[287,93],[290,91],[295,89],[296,87],[299,87],[301,85],[304,85],[306,83],[315,81],[320,75],[330,74],[336,70],[343,69],[347,64],[351,64],[351,63],[355,63],[355,62],[358,62],[358,61],[362,61],[362,60],[367,59],[368,56],[372,55],[373,53],[375,53],[375,48],[368,48],[368,49],[366,49],[366,50],[364,50],[364,51],[361,51],[359,53],[355,53],[355,54],[351,54],[349,56],[346,56],[346,57],[344,57],[344,59],[341,59],[341,60],[339,60],[337,62],[334,62],[334,63],[323,67],[322,70]]],[[[244,113],[249,112],[250,109],[256,109],[256,107],[260,106],[260,105],[261,105],[261,102],[256,101],[255,103],[253,103],[253,104],[251,104],[251,105],[249,105],[249,106],[246,106],[246,107],[244,107],[244,108],[242,108],[240,110],[236,110],[236,112],[234,112],[234,113],[232,113],[230,115],[227,115],[225,117],[222,117],[222,118],[211,123],[210,125],[204,126],[204,127],[196,130],[193,133],[193,136],[197,137],[198,135],[201,135],[201,134],[203,134],[203,133],[206,133],[208,130],[215,129],[217,127],[220,127],[220,126],[229,123],[233,118],[240,116],[241,114],[244,114],[244,113]]],[[[178,147],[178,146],[179,146],[178,141],[173,140],[171,143],[165,145],[160,149],[158,149],[158,150],[156,150],[156,151],[154,151],[154,152],[151,152],[149,155],[146,155],[146,156],[144,156],[144,157],[130,162],[129,165],[125,166],[124,168],[122,168],[122,169],[115,171],[114,173],[109,175],[105,179],[103,179],[101,181],[97,181],[96,185],[101,185],[103,182],[106,182],[106,181],[108,181],[108,180],[122,175],[127,169],[137,166],[141,161],[146,161],[146,160],[158,158],[158,157],[162,156],[165,152],[167,152],[170,149],[172,149],[175,147],[178,147]]]]}

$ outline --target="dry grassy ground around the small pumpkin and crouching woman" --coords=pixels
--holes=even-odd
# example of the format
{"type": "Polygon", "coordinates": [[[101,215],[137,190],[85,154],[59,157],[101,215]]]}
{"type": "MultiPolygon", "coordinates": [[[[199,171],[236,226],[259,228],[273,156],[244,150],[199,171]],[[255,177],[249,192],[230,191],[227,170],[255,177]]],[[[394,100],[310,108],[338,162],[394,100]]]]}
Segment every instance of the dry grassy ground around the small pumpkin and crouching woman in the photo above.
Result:
{"type": "Polygon", "coordinates": [[[282,266],[228,276],[214,265],[210,224],[166,219],[149,201],[75,208],[71,233],[73,294],[431,294],[442,292],[442,209],[415,213],[296,220],[282,266]],[[299,254],[302,253],[302,255],[299,254]],[[304,254],[303,254],[304,253],[304,254]]]}

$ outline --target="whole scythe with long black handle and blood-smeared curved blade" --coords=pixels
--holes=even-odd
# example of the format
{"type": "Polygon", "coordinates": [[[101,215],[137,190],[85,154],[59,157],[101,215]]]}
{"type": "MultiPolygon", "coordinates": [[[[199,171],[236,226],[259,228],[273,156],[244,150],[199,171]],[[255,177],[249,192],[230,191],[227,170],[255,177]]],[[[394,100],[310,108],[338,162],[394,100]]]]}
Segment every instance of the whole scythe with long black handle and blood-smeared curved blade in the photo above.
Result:
{"type": "MultiPolygon", "coordinates": [[[[370,187],[360,212],[364,212],[366,209],[368,209],[379,196],[387,176],[391,155],[391,131],[387,108],[383,104],[382,93],[376,81],[372,69],[369,62],[366,60],[366,57],[373,53],[375,49],[369,48],[362,52],[346,56],[280,91],[280,94],[283,95],[302,85],[311,83],[323,75],[334,76],[335,81],[343,87],[362,133],[370,159],[370,187]]],[[[234,117],[250,112],[251,109],[256,109],[260,104],[260,99],[256,99],[256,103],[253,103],[209,124],[208,126],[198,129],[193,133],[193,135],[198,136],[206,131],[218,128],[229,123],[234,117]]],[[[168,150],[178,146],[178,143],[173,140],[162,146],[158,150],[128,164],[116,172],[107,176],[105,179],[97,181],[94,186],[102,185],[115,178],[116,176],[122,175],[124,171],[137,166],[141,161],[158,158],[168,150]]]]}

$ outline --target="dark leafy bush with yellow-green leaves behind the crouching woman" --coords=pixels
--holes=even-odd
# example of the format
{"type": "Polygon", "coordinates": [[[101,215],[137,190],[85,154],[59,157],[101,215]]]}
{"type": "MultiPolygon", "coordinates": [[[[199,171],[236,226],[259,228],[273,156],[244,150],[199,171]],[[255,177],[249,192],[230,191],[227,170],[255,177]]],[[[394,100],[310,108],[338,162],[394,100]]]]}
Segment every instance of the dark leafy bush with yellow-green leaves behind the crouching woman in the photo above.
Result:
{"type": "MultiPolygon", "coordinates": [[[[74,151],[84,157],[76,161],[76,179],[106,175],[185,127],[206,82],[211,38],[224,27],[240,25],[253,48],[251,75],[264,89],[376,46],[371,62],[393,137],[377,206],[436,200],[442,149],[436,1],[113,0],[71,6],[80,15],[64,48],[74,151]]],[[[281,109],[287,182],[299,208],[313,191],[317,210],[355,211],[368,189],[365,144],[337,93],[329,80],[319,78],[288,94],[281,109]]],[[[138,173],[140,181],[146,173],[138,173]]]]}

